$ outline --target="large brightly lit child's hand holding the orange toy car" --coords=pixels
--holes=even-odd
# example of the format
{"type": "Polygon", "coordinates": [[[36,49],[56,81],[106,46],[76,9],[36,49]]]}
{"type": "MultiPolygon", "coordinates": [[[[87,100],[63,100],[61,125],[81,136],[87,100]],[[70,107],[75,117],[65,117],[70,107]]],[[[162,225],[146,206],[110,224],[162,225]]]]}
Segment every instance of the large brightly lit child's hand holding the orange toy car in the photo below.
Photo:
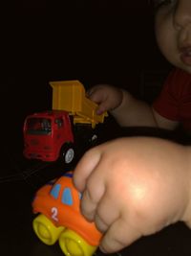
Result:
{"type": "Polygon", "coordinates": [[[83,192],[82,214],[104,233],[100,248],[115,252],[141,236],[188,222],[187,148],[154,138],[122,138],[82,157],[74,184],[83,192]]]}

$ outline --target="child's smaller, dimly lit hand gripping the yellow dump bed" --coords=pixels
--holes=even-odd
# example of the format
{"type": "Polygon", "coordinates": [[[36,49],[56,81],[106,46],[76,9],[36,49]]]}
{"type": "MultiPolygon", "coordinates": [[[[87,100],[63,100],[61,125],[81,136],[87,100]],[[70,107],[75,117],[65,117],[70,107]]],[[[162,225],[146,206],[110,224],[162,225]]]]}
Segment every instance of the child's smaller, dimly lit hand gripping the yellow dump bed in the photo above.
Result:
{"type": "Polygon", "coordinates": [[[122,102],[122,91],[117,87],[100,84],[92,87],[87,96],[98,104],[97,114],[117,108],[122,102]]]}

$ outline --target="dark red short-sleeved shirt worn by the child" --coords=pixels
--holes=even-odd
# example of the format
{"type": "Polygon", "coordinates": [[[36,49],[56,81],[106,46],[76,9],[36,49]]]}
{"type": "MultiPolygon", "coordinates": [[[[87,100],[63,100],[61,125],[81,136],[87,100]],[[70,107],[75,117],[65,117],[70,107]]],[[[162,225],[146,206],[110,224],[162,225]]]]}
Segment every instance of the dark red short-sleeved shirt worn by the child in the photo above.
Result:
{"type": "Polygon", "coordinates": [[[191,130],[191,75],[174,69],[164,82],[153,107],[159,115],[178,121],[183,128],[191,130]]]}

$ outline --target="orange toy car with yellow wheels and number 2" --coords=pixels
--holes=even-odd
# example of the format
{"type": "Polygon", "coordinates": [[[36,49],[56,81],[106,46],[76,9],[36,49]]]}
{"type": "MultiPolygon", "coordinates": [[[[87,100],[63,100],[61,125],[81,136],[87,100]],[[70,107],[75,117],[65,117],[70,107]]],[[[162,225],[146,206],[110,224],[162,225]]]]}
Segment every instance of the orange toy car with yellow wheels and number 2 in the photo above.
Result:
{"type": "Polygon", "coordinates": [[[67,256],[92,256],[102,234],[92,222],[86,221],[79,210],[81,195],[74,188],[73,173],[40,188],[33,201],[33,230],[44,244],[55,244],[67,256]]]}

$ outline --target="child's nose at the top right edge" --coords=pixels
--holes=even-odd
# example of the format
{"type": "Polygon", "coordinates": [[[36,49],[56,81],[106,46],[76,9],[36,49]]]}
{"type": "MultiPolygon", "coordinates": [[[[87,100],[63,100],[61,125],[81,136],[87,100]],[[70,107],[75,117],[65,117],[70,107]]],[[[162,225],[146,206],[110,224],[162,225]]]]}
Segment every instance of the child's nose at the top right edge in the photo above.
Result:
{"type": "Polygon", "coordinates": [[[174,27],[180,30],[189,24],[191,25],[191,0],[180,0],[174,12],[174,27]]]}

